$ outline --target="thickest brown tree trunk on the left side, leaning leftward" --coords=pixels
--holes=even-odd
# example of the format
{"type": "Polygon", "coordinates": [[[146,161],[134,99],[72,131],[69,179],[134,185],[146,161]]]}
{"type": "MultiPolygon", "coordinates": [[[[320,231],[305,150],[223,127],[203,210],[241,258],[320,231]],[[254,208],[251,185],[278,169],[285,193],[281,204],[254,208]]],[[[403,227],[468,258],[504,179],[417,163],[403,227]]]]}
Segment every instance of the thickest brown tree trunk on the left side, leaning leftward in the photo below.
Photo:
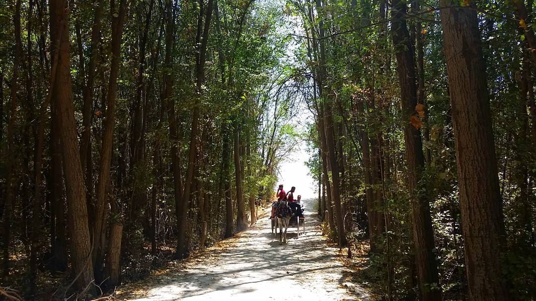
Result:
{"type": "MultiPolygon", "coordinates": [[[[62,144],[63,167],[67,187],[67,216],[71,235],[71,258],[73,272],[78,276],[77,288],[84,289],[93,281],[91,264],[90,231],[87,223],[86,195],[84,176],[78,151],[75,107],[72,101],[70,68],[69,11],[65,0],[50,1],[51,41],[59,40],[58,67],[54,91],[55,106],[59,121],[59,134],[62,144]],[[61,36],[54,34],[61,32],[61,36]]],[[[93,290],[93,289],[90,289],[93,290]]]]}

